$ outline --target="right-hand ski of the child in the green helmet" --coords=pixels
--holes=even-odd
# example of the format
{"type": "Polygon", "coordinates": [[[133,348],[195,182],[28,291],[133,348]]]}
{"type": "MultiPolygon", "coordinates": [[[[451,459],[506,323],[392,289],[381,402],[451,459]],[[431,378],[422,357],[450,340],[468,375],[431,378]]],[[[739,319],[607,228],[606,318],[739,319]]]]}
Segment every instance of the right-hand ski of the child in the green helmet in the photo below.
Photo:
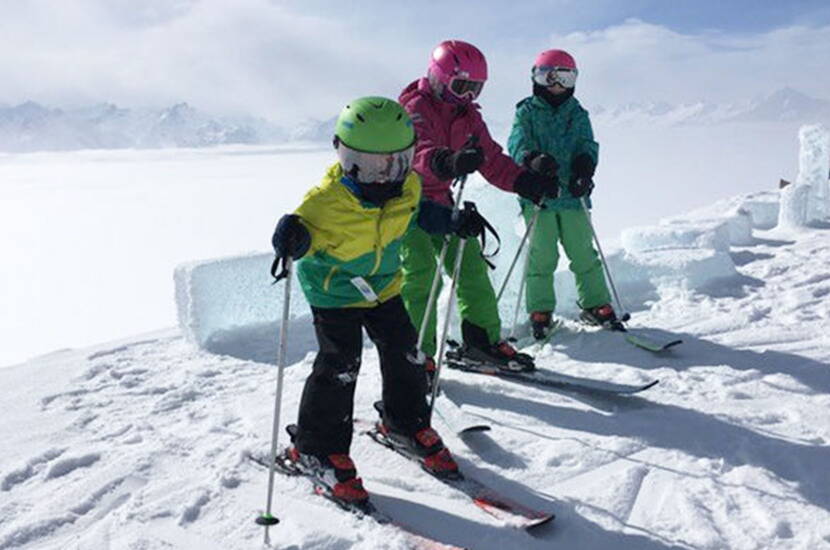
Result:
{"type": "MultiPolygon", "coordinates": [[[[375,407],[382,411],[382,404],[376,403],[375,407]]],[[[371,428],[363,432],[368,435],[375,443],[395,451],[400,456],[416,462],[421,465],[420,457],[408,452],[407,449],[396,445],[392,440],[386,437],[378,428],[377,424],[372,424],[371,428]]],[[[485,485],[481,481],[464,475],[461,472],[447,477],[436,475],[435,473],[423,468],[421,469],[441,483],[461,491],[473,501],[473,503],[481,508],[490,516],[498,519],[507,526],[524,529],[526,531],[533,530],[537,527],[551,522],[556,516],[552,513],[534,510],[523,504],[515,502],[485,485]]]]}

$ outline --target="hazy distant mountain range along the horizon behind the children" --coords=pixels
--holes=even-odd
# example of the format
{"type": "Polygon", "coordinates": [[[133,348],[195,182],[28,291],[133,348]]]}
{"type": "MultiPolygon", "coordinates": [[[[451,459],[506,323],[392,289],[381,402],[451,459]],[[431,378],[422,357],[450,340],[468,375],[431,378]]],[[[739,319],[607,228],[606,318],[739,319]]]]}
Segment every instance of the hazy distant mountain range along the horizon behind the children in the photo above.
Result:
{"type": "MultiPolygon", "coordinates": [[[[705,101],[672,105],[630,103],[613,108],[590,107],[595,124],[662,125],[727,122],[830,123],[830,101],[792,88],[741,104],[705,101]]],[[[325,143],[334,134],[336,117],[309,119],[285,128],[254,117],[216,117],[187,103],[166,109],[126,109],[111,103],[57,109],[34,102],[0,105],[0,151],[207,147],[305,141],[325,143]]],[[[505,124],[492,123],[492,133],[505,124]]],[[[509,123],[508,123],[509,124],[509,123]]]]}

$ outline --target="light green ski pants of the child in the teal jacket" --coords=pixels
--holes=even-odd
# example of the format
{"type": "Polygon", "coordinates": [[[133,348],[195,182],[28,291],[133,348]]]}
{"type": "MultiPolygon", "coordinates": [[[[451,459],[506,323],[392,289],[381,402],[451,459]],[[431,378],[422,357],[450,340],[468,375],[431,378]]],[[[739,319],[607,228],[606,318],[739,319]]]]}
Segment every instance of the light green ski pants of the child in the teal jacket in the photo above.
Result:
{"type": "MultiPolygon", "coordinates": [[[[533,218],[533,206],[522,209],[525,224],[533,218]]],[[[605,274],[597,251],[594,250],[590,222],[583,210],[549,210],[539,212],[533,242],[530,245],[530,264],[527,269],[528,313],[554,311],[556,295],[553,273],[559,263],[559,243],[571,261],[570,269],[576,279],[579,306],[592,308],[611,302],[605,274]]]]}

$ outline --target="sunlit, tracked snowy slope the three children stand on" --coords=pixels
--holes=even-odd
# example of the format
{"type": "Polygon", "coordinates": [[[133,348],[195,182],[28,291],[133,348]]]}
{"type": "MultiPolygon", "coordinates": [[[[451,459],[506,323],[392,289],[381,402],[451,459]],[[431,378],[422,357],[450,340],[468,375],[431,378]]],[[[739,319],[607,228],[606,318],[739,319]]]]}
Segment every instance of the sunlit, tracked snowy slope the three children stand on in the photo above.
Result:
{"type": "MultiPolygon", "coordinates": [[[[532,537],[356,436],[367,488],[426,536],[471,548],[830,548],[830,229],[755,231],[739,276],[661,286],[634,325],[681,334],[656,356],[567,322],[541,368],[660,384],[637,397],[543,391],[446,372],[448,398],[493,427],[460,459],[557,514],[532,537]]],[[[294,335],[304,337],[307,335],[294,335]]],[[[312,356],[287,369],[296,418],[312,356]]],[[[356,414],[373,417],[367,349],[356,414]]],[[[176,330],[0,370],[0,550],[259,547],[276,371],[211,355],[176,330]]],[[[284,438],[283,438],[284,441],[284,438]]],[[[283,548],[407,548],[278,478],[283,548]]]]}

